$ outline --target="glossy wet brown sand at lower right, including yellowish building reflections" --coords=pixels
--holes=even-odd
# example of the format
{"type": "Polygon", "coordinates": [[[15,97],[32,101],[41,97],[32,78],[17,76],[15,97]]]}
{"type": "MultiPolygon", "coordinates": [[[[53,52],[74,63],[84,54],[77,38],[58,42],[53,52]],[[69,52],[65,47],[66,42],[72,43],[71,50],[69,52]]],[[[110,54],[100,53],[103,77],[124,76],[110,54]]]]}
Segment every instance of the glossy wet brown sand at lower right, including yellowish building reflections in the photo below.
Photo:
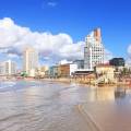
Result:
{"type": "Polygon", "coordinates": [[[83,111],[100,131],[131,131],[131,91],[124,87],[97,88],[96,99],[83,104],[83,111]]]}

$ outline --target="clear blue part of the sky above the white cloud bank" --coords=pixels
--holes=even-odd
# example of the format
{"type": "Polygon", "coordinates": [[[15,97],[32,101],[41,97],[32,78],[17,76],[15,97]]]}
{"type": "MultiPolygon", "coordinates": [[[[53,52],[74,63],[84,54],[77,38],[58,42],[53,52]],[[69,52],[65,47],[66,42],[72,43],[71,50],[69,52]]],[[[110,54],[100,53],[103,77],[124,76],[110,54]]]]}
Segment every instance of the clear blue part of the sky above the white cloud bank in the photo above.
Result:
{"type": "Polygon", "coordinates": [[[103,43],[115,57],[131,44],[131,0],[0,0],[0,19],[35,32],[69,34],[74,43],[102,27],[103,43]]]}

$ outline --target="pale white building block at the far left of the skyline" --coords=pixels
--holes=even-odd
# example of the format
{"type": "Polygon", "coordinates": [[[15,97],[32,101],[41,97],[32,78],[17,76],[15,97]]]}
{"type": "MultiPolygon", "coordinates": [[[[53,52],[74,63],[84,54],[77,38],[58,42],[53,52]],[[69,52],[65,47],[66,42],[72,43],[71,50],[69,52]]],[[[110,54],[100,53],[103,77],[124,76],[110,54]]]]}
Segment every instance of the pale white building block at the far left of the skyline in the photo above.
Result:
{"type": "Polygon", "coordinates": [[[0,63],[0,75],[13,75],[16,73],[16,63],[8,60],[0,63]]]}

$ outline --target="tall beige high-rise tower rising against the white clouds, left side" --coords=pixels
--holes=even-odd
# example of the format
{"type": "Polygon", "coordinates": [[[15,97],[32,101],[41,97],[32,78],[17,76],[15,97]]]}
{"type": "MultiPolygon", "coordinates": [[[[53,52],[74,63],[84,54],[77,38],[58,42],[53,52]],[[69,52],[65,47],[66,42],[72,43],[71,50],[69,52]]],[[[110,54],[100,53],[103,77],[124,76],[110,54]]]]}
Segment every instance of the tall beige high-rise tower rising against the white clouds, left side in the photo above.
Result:
{"type": "Polygon", "coordinates": [[[23,55],[24,71],[29,74],[35,74],[35,69],[38,68],[38,51],[32,47],[27,47],[23,55]],[[34,73],[33,73],[34,72],[34,73]]]}

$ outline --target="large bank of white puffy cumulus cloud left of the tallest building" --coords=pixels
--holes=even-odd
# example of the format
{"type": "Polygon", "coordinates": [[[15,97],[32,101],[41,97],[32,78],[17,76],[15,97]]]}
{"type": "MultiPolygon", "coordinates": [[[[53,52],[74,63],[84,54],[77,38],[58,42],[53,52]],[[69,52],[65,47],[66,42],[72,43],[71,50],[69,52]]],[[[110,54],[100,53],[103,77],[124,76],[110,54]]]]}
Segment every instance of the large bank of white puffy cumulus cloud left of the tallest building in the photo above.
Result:
{"type": "Polygon", "coordinates": [[[0,52],[10,57],[19,57],[27,46],[37,49],[40,57],[45,59],[59,61],[83,58],[84,41],[74,44],[68,34],[32,32],[28,27],[15,24],[10,17],[0,20],[0,52]]]}

